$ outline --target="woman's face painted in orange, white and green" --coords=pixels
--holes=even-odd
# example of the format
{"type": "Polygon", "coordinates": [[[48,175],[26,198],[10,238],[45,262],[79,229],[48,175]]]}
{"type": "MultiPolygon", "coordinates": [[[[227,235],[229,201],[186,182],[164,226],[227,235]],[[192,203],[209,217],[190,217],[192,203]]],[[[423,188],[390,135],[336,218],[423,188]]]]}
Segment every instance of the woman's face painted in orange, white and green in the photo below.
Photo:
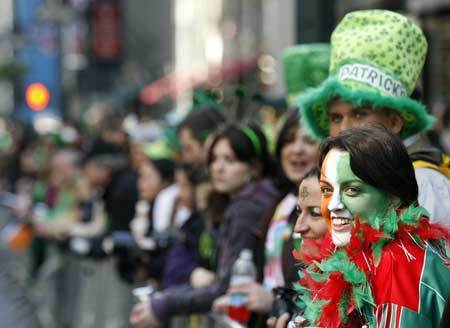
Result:
{"type": "Polygon", "coordinates": [[[338,149],[328,152],[320,173],[322,214],[328,222],[333,243],[345,246],[355,217],[367,221],[383,215],[391,205],[389,194],[365,183],[350,167],[350,154],[338,149]]]}

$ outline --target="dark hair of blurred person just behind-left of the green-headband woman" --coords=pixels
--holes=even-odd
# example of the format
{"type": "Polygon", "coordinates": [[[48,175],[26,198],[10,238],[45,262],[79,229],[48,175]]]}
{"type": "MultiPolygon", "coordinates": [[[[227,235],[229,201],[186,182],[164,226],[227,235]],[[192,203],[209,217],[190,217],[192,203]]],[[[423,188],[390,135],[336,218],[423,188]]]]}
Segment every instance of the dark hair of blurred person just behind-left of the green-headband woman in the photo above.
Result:
{"type": "Polygon", "coordinates": [[[178,125],[177,133],[180,133],[183,128],[187,128],[191,131],[192,136],[203,144],[211,132],[226,121],[226,117],[221,111],[213,107],[205,107],[190,112],[178,125]]]}

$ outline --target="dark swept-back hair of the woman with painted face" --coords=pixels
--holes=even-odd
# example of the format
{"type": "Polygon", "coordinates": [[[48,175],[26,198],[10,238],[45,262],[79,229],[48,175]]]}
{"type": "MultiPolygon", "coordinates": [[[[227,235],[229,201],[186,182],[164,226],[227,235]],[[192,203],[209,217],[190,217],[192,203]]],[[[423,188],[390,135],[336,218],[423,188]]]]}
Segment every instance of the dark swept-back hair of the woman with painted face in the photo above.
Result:
{"type": "Polygon", "coordinates": [[[350,154],[352,171],[364,182],[397,196],[403,206],[417,202],[414,168],[402,140],[379,126],[351,128],[320,145],[320,167],[337,148],[350,154]]]}

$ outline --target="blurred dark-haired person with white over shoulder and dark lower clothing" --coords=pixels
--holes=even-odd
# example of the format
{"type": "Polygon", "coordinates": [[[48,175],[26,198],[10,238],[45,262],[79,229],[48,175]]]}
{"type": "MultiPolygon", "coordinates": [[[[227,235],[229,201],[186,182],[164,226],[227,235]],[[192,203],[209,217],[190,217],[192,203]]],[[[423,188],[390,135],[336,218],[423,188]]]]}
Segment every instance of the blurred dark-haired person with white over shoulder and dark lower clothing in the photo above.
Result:
{"type": "Polygon", "coordinates": [[[120,267],[125,277],[131,274],[128,277],[130,281],[138,279],[137,276],[159,281],[168,242],[165,233],[177,219],[186,220],[186,216],[176,218],[174,213],[178,187],[173,183],[175,163],[171,149],[161,139],[144,145],[143,154],[145,157],[138,170],[139,201],[130,222],[131,235],[142,252],[131,249],[130,255],[137,258],[121,256],[123,263],[120,267]],[[164,238],[158,239],[157,235],[164,238]],[[133,277],[133,272],[136,277],[133,277]]]}

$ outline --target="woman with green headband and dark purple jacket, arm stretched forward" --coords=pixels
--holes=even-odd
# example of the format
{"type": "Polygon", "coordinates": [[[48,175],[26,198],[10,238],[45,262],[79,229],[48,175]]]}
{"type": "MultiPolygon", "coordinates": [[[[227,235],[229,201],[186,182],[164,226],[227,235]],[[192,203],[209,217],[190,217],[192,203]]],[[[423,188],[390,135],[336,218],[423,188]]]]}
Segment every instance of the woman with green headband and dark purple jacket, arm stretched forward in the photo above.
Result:
{"type": "Polygon", "coordinates": [[[277,191],[266,140],[255,125],[229,125],[218,132],[207,157],[214,192],[229,196],[218,238],[217,273],[203,287],[185,285],[152,295],[137,304],[130,316],[136,327],[157,327],[177,314],[206,312],[229,283],[232,264],[243,248],[255,251],[252,229],[272,204],[277,191]]]}

